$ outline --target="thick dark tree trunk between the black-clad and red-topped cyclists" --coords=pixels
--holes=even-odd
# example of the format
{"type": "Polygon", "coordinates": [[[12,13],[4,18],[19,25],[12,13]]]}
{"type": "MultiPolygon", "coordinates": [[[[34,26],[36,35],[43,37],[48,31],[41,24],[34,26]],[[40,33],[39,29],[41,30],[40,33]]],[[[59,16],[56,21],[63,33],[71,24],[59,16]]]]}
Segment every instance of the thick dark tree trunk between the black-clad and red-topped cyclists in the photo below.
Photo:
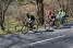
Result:
{"type": "Polygon", "coordinates": [[[44,24],[44,0],[36,0],[37,3],[37,15],[40,24],[44,24]]]}

